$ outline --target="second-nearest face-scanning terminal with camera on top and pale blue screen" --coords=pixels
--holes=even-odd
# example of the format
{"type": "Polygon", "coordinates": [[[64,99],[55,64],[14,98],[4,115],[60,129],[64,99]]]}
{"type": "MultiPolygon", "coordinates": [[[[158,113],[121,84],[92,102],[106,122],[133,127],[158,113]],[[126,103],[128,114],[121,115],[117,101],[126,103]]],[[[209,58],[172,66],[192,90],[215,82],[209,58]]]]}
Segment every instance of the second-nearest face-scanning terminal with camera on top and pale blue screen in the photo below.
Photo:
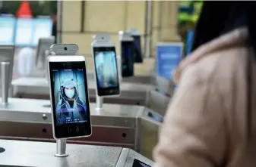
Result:
{"type": "Polygon", "coordinates": [[[91,47],[97,95],[105,97],[119,95],[119,70],[115,44],[110,42],[108,35],[96,35],[93,36],[91,47]]]}

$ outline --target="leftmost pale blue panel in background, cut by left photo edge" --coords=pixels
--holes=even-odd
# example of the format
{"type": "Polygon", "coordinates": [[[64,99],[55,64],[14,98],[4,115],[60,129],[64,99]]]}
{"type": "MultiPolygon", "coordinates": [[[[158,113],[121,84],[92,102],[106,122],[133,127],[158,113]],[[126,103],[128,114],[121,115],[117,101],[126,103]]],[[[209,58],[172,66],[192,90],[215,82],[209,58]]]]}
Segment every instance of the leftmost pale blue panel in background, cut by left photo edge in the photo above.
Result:
{"type": "Polygon", "coordinates": [[[14,17],[0,17],[0,45],[14,44],[14,17]]]}

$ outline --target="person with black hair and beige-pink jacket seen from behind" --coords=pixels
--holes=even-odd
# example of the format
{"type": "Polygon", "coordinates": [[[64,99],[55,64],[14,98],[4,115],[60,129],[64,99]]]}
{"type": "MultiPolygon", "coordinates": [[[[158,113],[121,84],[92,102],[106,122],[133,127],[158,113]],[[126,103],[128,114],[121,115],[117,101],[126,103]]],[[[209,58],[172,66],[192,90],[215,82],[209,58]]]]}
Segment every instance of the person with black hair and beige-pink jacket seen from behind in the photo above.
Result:
{"type": "Polygon", "coordinates": [[[256,2],[205,1],[153,156],[156,167],[256,166],[256,2]]]}

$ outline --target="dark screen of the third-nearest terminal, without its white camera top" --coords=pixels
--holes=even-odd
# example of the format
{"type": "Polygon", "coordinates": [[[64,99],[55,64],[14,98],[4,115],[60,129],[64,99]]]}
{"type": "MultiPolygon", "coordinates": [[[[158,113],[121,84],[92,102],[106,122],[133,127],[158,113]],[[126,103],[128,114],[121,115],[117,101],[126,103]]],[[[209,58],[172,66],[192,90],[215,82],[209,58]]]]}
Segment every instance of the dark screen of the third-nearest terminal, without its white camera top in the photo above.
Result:
{"type": "Polygon", "coordinates": [[[122,76],[134,76],[133,42],[122,42],[122,76]]]}

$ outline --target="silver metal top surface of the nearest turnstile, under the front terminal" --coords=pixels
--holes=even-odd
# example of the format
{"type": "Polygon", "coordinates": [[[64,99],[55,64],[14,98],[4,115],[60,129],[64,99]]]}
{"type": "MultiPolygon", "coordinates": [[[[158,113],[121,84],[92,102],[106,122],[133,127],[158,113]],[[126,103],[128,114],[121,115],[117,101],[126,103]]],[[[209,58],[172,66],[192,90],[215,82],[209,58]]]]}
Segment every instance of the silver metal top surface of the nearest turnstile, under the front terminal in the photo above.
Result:
{"type": "Polygon", "coordinates": [[[0,166],[115,167],[122,147],[67,144],[69,156],[54,156],[55,143],[0,140],[6,151],[0,153],[0,166]],[[17,157],[17,158],[11,158],[17,157]]]}

